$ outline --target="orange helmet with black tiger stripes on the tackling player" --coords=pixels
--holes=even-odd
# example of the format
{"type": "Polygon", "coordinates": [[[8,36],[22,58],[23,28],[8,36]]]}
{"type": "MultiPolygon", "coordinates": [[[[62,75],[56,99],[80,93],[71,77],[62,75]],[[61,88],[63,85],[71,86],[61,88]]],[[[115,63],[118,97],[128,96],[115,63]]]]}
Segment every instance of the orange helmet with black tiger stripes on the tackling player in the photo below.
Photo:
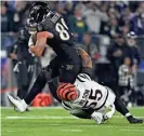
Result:
{"type": "Polygon", "coordinates": [[[78,97],[78,91],[74,84],[62,83],[57,87],[57,96],[65,101],[75,100],[78,97]]]}

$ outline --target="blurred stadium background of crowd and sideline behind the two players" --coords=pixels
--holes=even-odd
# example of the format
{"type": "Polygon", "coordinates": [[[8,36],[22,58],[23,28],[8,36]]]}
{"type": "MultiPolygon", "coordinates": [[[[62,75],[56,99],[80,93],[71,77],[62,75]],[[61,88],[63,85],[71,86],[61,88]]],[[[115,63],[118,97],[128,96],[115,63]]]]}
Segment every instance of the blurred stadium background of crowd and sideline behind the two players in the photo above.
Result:
{"type": "MultiPolygon", "coordinates": [[[[52,10],[64,15],[77,44],[91,55],[94,80],[112,87],[128,106],[144,106],[144,2],[49,1],[49,3],[52,10]],[[126,64],[129,62],[126,57],[130,60],[130,66],[125,71],[123,60],[126,64]]],[[[16,96],[19,84],[25,91],[35,80],[39,69],[47,66],[55,55],[48,47],[40,59],[32,57],[29,60],[21,56],[23,59],[18,63],[23,64],[19,68],[23,72],[13,71],[17,63],[14,43],[18,30],[26,24],[31,4],[31,1],[1,2],[1,106],[10,106],[6,94],[16,96]],[[26,62],[29,62],[32,68],[30,79],[26,62]]],[[[45,93],[49,93],[48,86],[32,105],[57,106],[55,99],[45,93]],[[41,97],[44,97],[42,103],[41,97]]],[[[26,93],[19,92],[19,96],[24,94],[26,93]]]]}

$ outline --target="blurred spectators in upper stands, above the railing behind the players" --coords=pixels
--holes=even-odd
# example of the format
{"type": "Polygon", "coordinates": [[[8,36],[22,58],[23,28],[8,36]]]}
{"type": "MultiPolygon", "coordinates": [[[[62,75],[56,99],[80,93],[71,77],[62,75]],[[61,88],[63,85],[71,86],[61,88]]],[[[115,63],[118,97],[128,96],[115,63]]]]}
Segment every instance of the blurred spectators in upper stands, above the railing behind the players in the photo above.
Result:
{"type": "MultiPolygon", "coordinates": [[[[18,29],[26,23],[30,1],[4,1],[1,4],[2,32],[18,29]]],[[[76,37],[84,32],[107,35],[110,38],[128,31],[144,33],[144,2],[142,1],[53,1],[52,10],[64,15],[76,37]]]]}

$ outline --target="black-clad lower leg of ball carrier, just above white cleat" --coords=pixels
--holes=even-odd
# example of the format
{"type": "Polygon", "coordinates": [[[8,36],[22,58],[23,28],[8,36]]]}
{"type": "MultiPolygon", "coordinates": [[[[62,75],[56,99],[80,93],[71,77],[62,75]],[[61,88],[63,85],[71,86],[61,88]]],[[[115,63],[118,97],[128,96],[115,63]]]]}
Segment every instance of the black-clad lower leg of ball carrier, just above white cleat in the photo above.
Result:
{"type": "Polygon", "coordinates": [[[49,70],[43,69],[39,76],[37,77],[31,90],[25,97],[25,101],[29,105],[32,99],[42,91],[48,80],[51,79],[51,72],[49,70]]]}

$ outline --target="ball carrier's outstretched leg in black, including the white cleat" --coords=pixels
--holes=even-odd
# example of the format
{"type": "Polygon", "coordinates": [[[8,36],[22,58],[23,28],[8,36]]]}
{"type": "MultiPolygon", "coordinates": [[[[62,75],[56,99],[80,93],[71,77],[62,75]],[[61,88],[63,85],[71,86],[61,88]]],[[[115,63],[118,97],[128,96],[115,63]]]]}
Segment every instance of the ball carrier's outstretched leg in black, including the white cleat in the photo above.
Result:
{"type": "Polygon", "coordinates": [[[32,99],[39,94],[42,89],[44,87],[45,83],[50,81],[53,76],[58,74],[58,67],[56,68],[56,71],[54,69],[50,68],[50,66],[43,68],[39,76],[37,77],[31,90],[26,95],[26,97],[22,100],[13,98],[11,95],[8,95],[8,98],[10,101],[14,105],[15,109],[19,112],[26,111],[28,108],[28,105],[32,101],[32,99]]]}

